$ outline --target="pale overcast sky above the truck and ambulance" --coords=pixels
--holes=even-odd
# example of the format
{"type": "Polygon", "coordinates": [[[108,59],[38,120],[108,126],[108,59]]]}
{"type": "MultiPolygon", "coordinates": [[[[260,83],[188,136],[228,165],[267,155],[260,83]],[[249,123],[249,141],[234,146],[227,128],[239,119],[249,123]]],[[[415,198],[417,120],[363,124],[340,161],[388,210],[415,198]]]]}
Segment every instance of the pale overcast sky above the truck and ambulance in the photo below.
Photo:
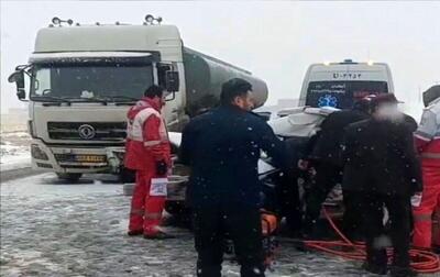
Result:
{"type": "Polygon", "coordinates": [[[25,64],[53,16],[176,24],[185,45],[251,70],[270,103],[297,98],[308,65],[344,58],[388,63],[397,96],[413,103],[440,82],[440,2],[1,1],[1,109],[19,107],[8,75],[25,64]]]}

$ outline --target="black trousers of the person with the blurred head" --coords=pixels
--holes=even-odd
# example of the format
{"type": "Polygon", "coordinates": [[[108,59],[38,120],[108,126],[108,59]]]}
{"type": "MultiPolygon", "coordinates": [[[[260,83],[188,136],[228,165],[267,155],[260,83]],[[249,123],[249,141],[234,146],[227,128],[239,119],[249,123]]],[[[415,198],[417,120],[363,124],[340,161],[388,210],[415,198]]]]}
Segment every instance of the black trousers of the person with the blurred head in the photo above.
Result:
{"type": "Polygon", "coordinates": [[[393,244],[393,265],[409,267],[411,206],[408,196],[388,196],[377,192],[358,193],[358,203],[363,211],[363,228],[366,241],[367,262],[386,267],[387,255],[384,237],[393,244]],[[383,223],[384,207],[389,214],[389,231],[383,223]]]}

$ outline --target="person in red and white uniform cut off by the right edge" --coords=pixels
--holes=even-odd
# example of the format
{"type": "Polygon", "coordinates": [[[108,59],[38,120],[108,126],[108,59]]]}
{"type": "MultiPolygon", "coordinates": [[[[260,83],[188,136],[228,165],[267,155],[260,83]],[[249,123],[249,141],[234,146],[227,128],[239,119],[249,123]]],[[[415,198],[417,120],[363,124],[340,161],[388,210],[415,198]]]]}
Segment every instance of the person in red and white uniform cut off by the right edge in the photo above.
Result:
{"type": "Polygon", "coordinates": [[[413,244],[430,248],[432,239],[437,239],[432,237],[432,218],[440,209],[440,86],[424,92],[424,102],[427,108],[415,137],[425,184],[421,201],[414,207],[413,244]]]}

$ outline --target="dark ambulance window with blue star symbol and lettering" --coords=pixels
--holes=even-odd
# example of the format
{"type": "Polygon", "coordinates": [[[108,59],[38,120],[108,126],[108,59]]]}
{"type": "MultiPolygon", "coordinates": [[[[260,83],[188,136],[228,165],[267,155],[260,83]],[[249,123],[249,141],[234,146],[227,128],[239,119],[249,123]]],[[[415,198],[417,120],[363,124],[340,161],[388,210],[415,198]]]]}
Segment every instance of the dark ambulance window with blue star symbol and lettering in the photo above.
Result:
{"type": "Polygon", "coordinates": [[[358,99],[386,92],[386,81],[311,81],[307,88],[306,106],[350,109],[358,99]]]}

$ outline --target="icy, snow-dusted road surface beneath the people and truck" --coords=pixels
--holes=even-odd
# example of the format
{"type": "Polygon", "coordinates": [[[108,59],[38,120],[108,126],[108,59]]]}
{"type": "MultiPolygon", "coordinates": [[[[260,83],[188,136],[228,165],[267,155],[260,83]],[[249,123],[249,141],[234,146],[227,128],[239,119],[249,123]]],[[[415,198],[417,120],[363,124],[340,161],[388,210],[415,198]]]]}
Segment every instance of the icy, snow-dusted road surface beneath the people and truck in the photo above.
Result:
{"type": "MultiPolygon", "coordinates": [[[[178,239],[127,236],[130,198],[108,176],[68,185],[43,174],[1,184],[0,189],[1,276],[194,276],[191,234],[169,228],[178,239]]],[[[267,275],[369,276],[359,267],[282,245],[267,275]]],[[[223,273],[239,276],[239,268],[227,262],[223,273]]]]}

